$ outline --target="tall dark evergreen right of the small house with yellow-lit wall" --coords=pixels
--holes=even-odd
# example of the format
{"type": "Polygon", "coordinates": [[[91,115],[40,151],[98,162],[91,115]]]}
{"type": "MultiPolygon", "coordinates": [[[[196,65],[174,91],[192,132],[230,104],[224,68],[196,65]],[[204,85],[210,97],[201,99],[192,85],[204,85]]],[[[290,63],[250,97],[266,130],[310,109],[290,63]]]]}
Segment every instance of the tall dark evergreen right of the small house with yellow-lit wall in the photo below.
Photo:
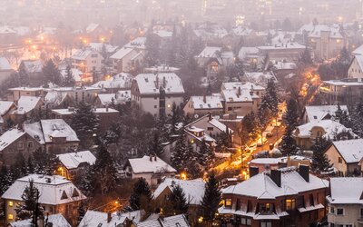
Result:
{"type": "Polygon", "coordinates": [[[117,171],[111,154],[103,145],[99,146],[96,157],[93,165],[93,187],[95,192],[105,194],[115,188],[117,171]]]}

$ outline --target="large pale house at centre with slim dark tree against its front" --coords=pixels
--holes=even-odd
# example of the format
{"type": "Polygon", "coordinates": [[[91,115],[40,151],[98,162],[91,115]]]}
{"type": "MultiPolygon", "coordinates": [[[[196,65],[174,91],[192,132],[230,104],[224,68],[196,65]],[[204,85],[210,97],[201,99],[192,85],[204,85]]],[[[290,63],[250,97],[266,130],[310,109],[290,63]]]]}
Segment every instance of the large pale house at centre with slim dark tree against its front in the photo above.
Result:
{"type": "Polygon", "coordinates": [[[132,105],[155,117],[172,114],[183,102],[184,88],[177,74],[138,74],[132,81],[132,105]]]}

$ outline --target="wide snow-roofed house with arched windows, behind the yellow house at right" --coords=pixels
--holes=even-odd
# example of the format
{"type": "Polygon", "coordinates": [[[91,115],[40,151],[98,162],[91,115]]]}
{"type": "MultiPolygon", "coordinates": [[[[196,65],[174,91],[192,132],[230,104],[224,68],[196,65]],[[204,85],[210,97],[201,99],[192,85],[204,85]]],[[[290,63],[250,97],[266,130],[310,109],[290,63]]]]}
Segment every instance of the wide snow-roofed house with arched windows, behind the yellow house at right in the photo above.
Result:
{"type": "Polygon", "coordinates": [[[336,140],[339,133],[348,133],[351,137],[358,137],[351,129],[333,120],[321,120],[299,125],[292,133],[292,137],[299,147],[310,149],[317,138],[324,137],[336,140]]]}

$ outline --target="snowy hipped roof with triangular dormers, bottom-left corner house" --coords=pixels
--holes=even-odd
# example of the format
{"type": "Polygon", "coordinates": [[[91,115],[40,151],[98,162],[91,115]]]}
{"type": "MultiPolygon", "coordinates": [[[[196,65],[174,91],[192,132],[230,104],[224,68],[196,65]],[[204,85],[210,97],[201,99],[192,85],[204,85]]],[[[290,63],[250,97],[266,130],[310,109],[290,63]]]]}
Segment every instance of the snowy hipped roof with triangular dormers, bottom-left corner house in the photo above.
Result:
{"type": "Polygon", "coordinates": [[[30,181],[34,181],[34,187],[40,192],[41,204],[58,205],[69,202],[77,202],[86,199],[83,193],[74,186],[74,183],[59,175],[29,174],[19,178],[3,194],[6,200],[23,201],[22,195],[30,181]]]}

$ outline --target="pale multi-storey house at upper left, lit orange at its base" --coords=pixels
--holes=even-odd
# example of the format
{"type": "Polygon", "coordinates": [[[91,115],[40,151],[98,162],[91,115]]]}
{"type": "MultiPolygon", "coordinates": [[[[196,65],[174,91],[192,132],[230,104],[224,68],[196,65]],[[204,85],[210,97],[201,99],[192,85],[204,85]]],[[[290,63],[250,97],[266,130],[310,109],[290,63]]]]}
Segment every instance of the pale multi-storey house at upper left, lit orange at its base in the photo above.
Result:
{"type": "Polygon", "coordinates": [[[92,82],[93,72],[100,72],[103,66],[102,54],[91,49],[78,50],[71,59],[72,67],[86,74],[87,77],[83,77],[83,81],[92,82]]]}

